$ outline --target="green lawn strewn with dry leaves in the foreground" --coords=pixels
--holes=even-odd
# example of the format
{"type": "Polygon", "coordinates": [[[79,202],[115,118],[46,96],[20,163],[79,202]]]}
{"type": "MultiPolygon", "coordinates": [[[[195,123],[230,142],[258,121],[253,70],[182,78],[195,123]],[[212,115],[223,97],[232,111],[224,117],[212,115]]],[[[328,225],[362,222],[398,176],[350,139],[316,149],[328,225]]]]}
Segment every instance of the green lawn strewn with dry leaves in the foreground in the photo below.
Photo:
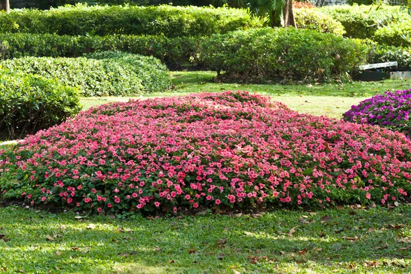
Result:
{"type": "Polygon", "coordinates": [[[410,206],[132,221],[6,207],[0,218],[0,273],[405,273],[411,266],[410,251],[401,251],[411,245],[410,206]]]}

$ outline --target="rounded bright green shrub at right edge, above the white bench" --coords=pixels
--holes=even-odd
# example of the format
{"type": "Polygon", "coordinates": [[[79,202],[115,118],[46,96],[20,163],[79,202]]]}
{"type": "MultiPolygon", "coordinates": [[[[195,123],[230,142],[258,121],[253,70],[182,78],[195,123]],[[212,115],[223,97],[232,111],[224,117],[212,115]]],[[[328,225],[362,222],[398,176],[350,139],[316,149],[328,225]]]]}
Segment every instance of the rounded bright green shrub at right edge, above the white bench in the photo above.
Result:
{"type": "Polygon", "coordinates": [[[411,46],[411,21],[391,24],[375,32],[375,41],[384,45],[411,46]]]}

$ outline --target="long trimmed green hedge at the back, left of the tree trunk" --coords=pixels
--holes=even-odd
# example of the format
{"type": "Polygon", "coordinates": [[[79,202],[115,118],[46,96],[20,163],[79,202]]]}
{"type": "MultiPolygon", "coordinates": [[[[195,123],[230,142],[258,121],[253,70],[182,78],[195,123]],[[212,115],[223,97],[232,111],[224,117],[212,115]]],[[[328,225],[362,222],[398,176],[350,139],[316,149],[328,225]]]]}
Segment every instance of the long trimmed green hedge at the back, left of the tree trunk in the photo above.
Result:
{"type": "Polygon", "coordinates": [[[51,10],[12,10],[0,16],[0,32],[58,35],[135,34],[210,36],[258,27],[246,10],[194,6],[64,6],[51,10]]]}

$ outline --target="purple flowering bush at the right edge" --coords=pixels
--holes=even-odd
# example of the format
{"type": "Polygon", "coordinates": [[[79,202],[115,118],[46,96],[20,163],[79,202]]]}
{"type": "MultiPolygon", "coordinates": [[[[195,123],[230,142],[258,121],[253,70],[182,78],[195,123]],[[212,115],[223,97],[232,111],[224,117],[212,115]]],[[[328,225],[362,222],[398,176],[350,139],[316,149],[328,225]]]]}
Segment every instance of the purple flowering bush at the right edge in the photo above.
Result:
{"type": "Polygon", "coordinates": [[[353,105],[343,114],[345,121],[379,125],[402,132],[411,138],[411,90],[397,90],[376,95],[353,105]]]}

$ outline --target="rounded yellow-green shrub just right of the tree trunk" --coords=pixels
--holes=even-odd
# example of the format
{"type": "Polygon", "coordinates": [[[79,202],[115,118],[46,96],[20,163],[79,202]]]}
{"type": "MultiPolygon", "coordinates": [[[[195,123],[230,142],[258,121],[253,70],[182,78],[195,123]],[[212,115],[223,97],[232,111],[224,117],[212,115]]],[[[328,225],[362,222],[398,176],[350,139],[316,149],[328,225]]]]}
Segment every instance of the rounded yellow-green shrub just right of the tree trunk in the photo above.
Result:
{"type": "Polygon", "coordinates": [[[314,29],[317,32],[327,32],[336,36],[345,34],[344,27],[339,21],[316,9],[295,10],[294,16],[299,29],[314,29]]]}

